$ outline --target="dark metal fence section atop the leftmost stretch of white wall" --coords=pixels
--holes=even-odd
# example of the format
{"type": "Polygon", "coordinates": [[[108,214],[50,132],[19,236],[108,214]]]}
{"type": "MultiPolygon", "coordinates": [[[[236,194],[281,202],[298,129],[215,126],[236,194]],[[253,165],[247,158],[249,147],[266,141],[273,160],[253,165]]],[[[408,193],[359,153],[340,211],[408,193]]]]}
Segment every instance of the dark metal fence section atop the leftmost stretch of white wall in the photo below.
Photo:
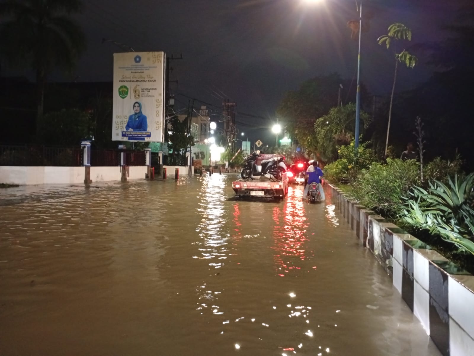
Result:
{"type": "Polygon", "coordinates": [[[82,148],[0,145],[0,166],[82,166],[82,148]]]}

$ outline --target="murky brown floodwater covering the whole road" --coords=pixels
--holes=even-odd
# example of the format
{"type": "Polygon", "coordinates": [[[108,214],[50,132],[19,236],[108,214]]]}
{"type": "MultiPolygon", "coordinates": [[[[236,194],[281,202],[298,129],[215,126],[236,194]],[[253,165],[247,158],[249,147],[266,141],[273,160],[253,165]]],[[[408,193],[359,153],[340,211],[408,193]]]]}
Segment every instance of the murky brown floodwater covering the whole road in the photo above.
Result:
{"type": "Polygon", "coordinates": [[[236,175],[0,192],[0,355],[438,355],[330,200],[236,175]]]}

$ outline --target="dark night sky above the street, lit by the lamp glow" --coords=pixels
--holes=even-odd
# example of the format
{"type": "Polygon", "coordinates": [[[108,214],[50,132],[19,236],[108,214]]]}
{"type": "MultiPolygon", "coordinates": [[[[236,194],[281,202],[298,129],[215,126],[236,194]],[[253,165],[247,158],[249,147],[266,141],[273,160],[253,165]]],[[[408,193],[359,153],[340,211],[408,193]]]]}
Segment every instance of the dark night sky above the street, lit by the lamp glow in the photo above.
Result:
{"type": "MultiPolygon", "coordinates": [[[[273,142],[263,127],[272,125],[285,91],[331,71],[347,79],[355,75],[357,42],[350,39],[346,27],[348,20],[357,19],[354,0],[322,0],[311,5],[303,0],[84,0],[84,5],[77,19],[88,36],[88,50],[74,78],[112,80],[112,54],[120,49],[112,43],[101,44],[102,37],[137,52],[182,53],[184,59],[172,63],[171,80],[179,81],[178,86],[171,85],[173,92],[217,106],[221,97],[230,98],[239,112],[268,117],[237,116],[237,126],[252,141],[273,142]]],[[[386,94],[391,90],[393,57],[386,47],[377,45],[377,37],[393,22],[401,22],[412,29],[412,43],[443,38],[446,33],[440,27],[453,20],[456,4],[365,0],[363,10],[370,10],[374,18],[369,32],[363,34],[362,81],[370,92],[386,94]]],[[[418,55],[418,67],[400,71],[398,91],[428,78],[430,69],[423,65],[426,59],[418,55]]],[[[55,75],[54,79],[64,77],[55,75]]],[[[187,105],[187,98],[176,98],[178,109],[187,105]]],[[[213,114],[221,112],[210,108],[213,114]]]]}

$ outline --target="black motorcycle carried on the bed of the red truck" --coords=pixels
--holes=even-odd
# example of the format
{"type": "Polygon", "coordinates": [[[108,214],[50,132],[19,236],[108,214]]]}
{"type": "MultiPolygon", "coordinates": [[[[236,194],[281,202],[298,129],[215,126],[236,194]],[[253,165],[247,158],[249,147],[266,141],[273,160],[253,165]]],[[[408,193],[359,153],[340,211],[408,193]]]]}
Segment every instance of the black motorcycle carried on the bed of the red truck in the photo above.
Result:
{"type": "Polygon", "coordinates": [[[275,179],[280,180],[286,172],[285,156],[279,154],[260,154],[253,152],[244,161],[241,176],[243,179],[275,179]]]}

